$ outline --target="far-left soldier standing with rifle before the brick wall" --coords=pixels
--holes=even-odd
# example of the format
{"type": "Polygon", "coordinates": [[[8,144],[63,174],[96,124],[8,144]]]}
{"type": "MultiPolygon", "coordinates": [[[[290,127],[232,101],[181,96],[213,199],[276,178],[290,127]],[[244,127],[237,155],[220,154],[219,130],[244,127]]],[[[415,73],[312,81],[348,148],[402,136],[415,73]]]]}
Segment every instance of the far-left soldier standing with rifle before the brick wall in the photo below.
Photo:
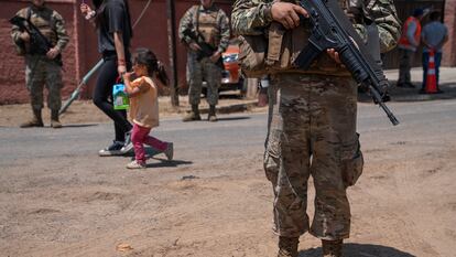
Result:
{"type": "Polygon", "coordinates": [[[20,10],[17,15],[30,19],[40,32],[52,43],[53,47],[46,55],[30,52],[30,35],[18,26],[12,26],[11,36],[18,52],[25,58],[25,83],[30,92],[33,118],[21,125],[21,128],[43,127],[41,110],[43,108],[43,86],[47,87],[47,107],[51,109],[51,127],[61,128],[58,110],[61,109],[62,67],[55,57],[68,43],[65,21],[62,15],[47,8],[44,0],[32,0],[32,4],[20,10]]]}

